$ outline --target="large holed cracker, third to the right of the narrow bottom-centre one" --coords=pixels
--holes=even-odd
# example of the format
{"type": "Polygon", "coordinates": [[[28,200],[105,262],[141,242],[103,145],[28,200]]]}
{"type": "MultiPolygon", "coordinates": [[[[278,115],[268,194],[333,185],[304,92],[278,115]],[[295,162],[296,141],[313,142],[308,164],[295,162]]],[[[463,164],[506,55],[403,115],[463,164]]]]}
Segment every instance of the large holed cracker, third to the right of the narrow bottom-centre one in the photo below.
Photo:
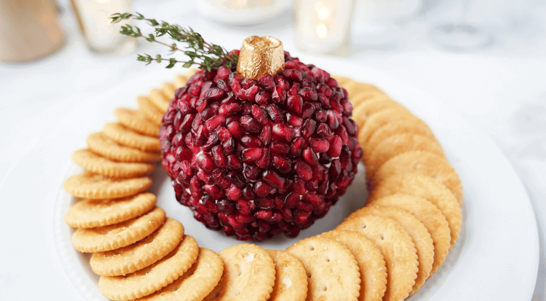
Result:
{"type": "Polygon", "coordinates": [[[367,214],[344,220],[336,230],[357,231],[381,250],[387,266],[383,300],[398,301],[410,295],[417,278],[417,250],[400,224],[385,216],[367,214]]]}

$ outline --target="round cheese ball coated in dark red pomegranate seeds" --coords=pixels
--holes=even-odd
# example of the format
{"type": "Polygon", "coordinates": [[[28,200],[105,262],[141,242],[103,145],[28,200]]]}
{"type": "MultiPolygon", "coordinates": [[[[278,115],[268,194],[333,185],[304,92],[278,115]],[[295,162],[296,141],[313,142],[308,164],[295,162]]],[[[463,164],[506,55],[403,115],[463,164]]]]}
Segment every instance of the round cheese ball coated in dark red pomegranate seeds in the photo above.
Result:
{"type": "Polygon", "coordinates": [[[282,53],[284,70],[257,79],[197,71],[163,116],[176,200],[239,240],[296,237],[345,193],[363,153],[347,91],[282,53]]]}

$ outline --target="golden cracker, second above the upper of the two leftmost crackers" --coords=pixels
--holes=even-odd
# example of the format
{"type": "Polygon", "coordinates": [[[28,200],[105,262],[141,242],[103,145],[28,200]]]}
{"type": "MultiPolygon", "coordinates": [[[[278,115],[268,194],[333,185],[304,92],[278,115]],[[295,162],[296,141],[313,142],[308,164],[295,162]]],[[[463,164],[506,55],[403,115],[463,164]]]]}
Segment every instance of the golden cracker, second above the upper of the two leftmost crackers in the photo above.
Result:
{"type": "Polygon", "coordinates": [[[105,158],[120,162],[158,162],[161,153],[143,152],[142,150],[127,147],[109,139],[104,133],[98,132],[87,136],[87,145],[93,153],[105,158]]]}

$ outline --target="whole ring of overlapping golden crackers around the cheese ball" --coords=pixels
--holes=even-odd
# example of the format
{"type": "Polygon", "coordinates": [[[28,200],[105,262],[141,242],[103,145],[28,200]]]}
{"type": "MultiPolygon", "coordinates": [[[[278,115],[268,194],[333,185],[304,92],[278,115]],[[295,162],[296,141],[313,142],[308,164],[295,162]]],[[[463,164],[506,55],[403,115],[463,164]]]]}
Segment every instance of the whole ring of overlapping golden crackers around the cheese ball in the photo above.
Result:
{"type": "Polygon", "coordinates": [[[63,186],[76,197],[96,199],[75,203],[67,212],[67,224],[76,228],[74,248],[94,252],[91,265],[102,275],[99,290],[104,296],[298,301],[337,292],[327,299],[399,300],[417,291],[441,267],[460,232],[458,175],[426,123],[381,89],[347,77],[337,80],[352,95],[363,162],[370,166],[366,178],[371,191],[368,206],[349,215],[335,230],[302,239],[286,251],[239,244],[216,254],[199,248],[193,237],[182,239],[183,226],[166,218],[162,209],[149,211],[155,200],[135,206],[138,209],[121,206],[124,199],[113,200],[129,199],[151,185],[138,181],[153,170],[152,162],[162,159],[157,138],[161,119],[188,76],[177,75],[172,83],[138,97],[139,109],[116,109],[118,123],[106,123],[103,132],[88,136],[88,150],[73,155],[84,172],[63,186]],[[424,154],[425,159],[406,164],[405,158],[416,154],[424,154]],[[412,178],[416,172],[420,182],[412,178]],[[98,182],[106,184],[93,186],[98,182]],[[121,184],[128,195],[120,196],[112,188],[121,184]],[[111,207],[85,215],[90,208],[100,208],[101,202],[111,207]],[[177,230],[167,230],[174,224],[177,230]],[[310,245],[319,248],[310,250],[310,245]],[[344,284],[331,276],[340,270],[344,284]]]}

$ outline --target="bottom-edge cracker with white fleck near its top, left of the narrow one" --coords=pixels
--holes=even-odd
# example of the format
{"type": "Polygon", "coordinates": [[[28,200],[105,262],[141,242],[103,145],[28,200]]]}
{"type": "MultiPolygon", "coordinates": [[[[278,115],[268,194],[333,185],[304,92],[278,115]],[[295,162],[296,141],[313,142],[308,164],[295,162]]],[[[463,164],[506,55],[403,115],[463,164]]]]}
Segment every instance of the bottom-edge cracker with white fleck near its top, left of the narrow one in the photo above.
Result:
{"type": "Polygon", "coordinates": [[[275,264],[267,251],[254,244],[238,244],[218,252],[224,273],[204,300],[265,301],[275,284],[275,264]]]}

